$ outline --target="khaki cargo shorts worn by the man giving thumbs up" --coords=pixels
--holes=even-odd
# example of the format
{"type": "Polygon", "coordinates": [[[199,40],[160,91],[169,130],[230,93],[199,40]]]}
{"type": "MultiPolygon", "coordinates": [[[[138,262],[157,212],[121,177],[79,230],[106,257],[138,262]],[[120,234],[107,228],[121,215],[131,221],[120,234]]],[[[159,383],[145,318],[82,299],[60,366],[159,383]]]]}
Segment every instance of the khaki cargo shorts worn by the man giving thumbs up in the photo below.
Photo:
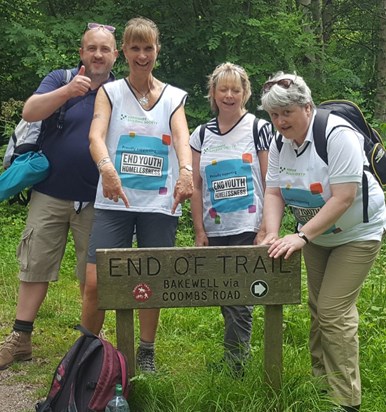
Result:
{"type": "Polygon", "coordinates": [[[16,253],[19,279],[24,282],[57,281],[71,231],[77,259],[76,275],[84,283],[93,218],[93,203],[76,213],[73,201],[33,191],[26,227],[16,253]]]}

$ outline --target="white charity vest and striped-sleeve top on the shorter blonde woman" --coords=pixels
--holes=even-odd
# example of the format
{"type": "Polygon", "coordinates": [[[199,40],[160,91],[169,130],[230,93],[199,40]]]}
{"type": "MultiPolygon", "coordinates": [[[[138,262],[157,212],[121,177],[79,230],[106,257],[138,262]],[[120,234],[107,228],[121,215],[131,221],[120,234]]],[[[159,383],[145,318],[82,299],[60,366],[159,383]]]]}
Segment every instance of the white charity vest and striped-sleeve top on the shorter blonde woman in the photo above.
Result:
{"type": "MultiPolygon", "coordinates": [[[[190,145],[201,152],[203,221],[208,237],[257,232],[263,208],[260,162],[253,139],[255,116],[245,114],[227,133],[221,134],[217,119],[207,124],[201,146],[200,126],[190,145]],[[211,126],[212,125],[212,126],[211,126]]],[[[268,150],[271,125],[259,120],[258,150],[268,150]]]]}

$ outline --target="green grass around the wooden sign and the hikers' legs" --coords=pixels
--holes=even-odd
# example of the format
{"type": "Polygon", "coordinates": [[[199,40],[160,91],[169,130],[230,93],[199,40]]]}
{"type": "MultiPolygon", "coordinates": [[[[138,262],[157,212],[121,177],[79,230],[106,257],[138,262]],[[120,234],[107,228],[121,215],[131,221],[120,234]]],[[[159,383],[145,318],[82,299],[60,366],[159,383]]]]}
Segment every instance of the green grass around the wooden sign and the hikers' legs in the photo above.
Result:
{"type": "MultiPolygon", "coordinates": [[[[26,210],[0,204],[0,340],[12,328],[17,301],[15,250],[24,227],[26,210]]],[[[286,227],[293,222],[286,217],[286,227]]],[[[184,208],[177,246],[192,246],[189,208],[184,208]]],[[[35,322],[33,361],[15,364],[14,383],[36,385],[36,400],[44,397],[53,371],[79,332],[81,300],[73,274],[73,243],[70,237],[60,280],[50,285],[35,322]]],[[[363,412],[386,411],[386,280],[385,246],[366,281],[360,299],[361,369],[363,412]]],[[[304,280],[304,273],[303,273],[304,280]]],[[[223,319],[219,308],[164,309],[157,335],[155,376],[138,375],[130,399],[133,412],[318,412],[330,411],[323,383],[310,375],[307,346],[309,314],[307,290],[302,286],[302,304],[284,308],[284,374],[280,393],[264,382],[264,308],[256,306],[252,357],[243,379],[214,372],[208,365],[223,355],[223,319]]],[[[138,328],[138,325],[136,325],[138,328]]],[[[115,343],[115,316],[108,312],[104,325],[115,343]]],[[[0,372],[1,378],[1,372],[0,372]]]]}

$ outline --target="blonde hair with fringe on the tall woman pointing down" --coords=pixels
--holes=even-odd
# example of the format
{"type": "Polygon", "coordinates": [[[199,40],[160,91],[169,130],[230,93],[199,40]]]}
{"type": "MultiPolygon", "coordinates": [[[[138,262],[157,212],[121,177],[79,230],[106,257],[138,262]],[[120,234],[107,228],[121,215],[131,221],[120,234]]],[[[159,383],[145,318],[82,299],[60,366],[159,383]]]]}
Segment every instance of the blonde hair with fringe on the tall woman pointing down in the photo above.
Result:
{"type": "Polygon", "coordinates": [[[122,47],[124,48],[131,42],[155,43],[159,51],[161,44],[157,25],[145,17],[134,17],[130,19],[126,23],[123,33],[122,47]]]}

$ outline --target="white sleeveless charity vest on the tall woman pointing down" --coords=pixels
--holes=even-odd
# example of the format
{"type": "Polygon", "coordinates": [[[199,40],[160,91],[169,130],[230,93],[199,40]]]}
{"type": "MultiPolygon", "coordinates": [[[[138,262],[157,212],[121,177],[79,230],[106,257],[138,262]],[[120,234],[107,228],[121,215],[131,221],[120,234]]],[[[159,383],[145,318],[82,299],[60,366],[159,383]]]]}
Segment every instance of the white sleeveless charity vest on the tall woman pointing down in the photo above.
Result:
{"type": "MultiPolygon", "coordinates": [[[[121,199],[114,202],[105,198],[101,178],[95,207],[171,215],[179,168],[170,122],[173,113],[185,104],[186,92],[166,85],[156,104],[145,110],[126,79],[103,88],[112,107],[106,145],[130,207],[121,199]]],[[[178,206],[174,216],[180,215],[178,206]]]]}

